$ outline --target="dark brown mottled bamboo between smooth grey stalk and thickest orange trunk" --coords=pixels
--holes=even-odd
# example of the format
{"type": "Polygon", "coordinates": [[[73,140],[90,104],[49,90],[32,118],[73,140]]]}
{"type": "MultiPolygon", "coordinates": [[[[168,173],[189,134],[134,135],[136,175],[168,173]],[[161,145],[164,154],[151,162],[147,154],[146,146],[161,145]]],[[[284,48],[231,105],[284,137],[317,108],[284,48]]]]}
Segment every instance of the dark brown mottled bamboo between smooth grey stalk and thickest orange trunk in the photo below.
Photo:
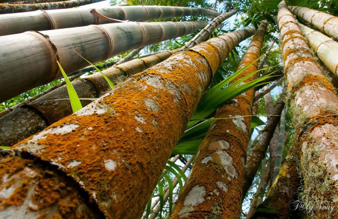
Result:
{"type": "MultiPolygon", "coordinates": [[[[125,81],[128,76],[166,60],[175,51],[160,52],[150,57],[135,59],[106,69],[103,73],[114,84],[117,84],[125,81]]],[[[97,98],[111,89],[106,79],[100,73],[73,81],[72,85],[80,98],[97,98]]],[[[67,86],[64,85],[1,117],[0,145],[12,146],[62,118],[71,115],[73,110],[68,98],[67,86]]],[[[82,106],[88,105],[90,102],[91,100],[81,100],[82,106]]]]}

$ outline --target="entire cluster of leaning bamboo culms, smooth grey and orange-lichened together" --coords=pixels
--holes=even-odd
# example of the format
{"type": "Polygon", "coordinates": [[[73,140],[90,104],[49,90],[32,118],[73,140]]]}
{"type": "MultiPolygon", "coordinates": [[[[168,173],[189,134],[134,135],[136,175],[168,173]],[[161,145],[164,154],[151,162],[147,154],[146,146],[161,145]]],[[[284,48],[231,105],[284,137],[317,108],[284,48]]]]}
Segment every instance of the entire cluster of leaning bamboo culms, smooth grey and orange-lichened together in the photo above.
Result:
{"type": "MultiPolygon", "coordinates": [[[[185,160],[182,172],[193,161],[194,165],[173,213],[168,214],[171,218],[239,218],[242,201],[260,166],[260,183],[248,219],[288,218],[293,213],[289,201],[298,198],[334,206],[338,98],[304,36],[333,74],[337,74],[338,59],[324,54],[332,52],[329,48],[338,50],[337,42],[298,24],[283,1],[278,9],[286,82],[279,100],[273,104],[269,91],[283,79],[264,86],[261,93],[247,90],[217,109],[196,160],[194,156],[185,160]],[[296,126],[297,143],[282,162],[287,89],[295,102],[295,117],[304,119],[296,126]],[[259,140],[252,141],[250,116],[257,113],[257,100],[262,97],[267,113],[273,116],[268,117],[259,140]],[[301,179],[303,191],[297,197],[301,179]],[[267,198],[262,200],[260,194],[268,185],[267,198]]],[[[291,9],[315,26],[323,21],[315,19],[321,13],[291,9]]],[[[1,218],[18,214],[24,218],[140,218],[174,146],[229,52],[253,35],[238,65],[238,70],[247,67],[236,78],[246,77],[245,83],[258,77],[253,73],[263,67],[267,57],[265,54],[257,62],[267,21],[257,30],[236,30],[203,42],[236,11],[219,15],[205,9],[136,6],[28,13],[1,15],[6,16],[3,23],[0,16],[0,27],[27,16],[26,25],[15,24],[11,32],[0,32],[4,35],[0,36],[0,101],[60,78],[56,61],[67,73],[85,67],[86,62],[75,51],[98,62],[134,50],[127,59],[103,71],[115,84],[113,90],[99,73],[72,81],[78,96],[86,98],[75,114],[66,99],[67,88],[61,86],[0,118],[0,145],[13,145],[2,151],[0,159],[1,218]],[[209,24],[135,22],[188,15],[218,17],[209,24]],[[65,22],[65,16],[72,19],[65,22]],[[62,29],[65,27],[69,28],[62,29]],[[198,29],[202,30],[184,49],[127,61],[142,46],[198,29]],[[17,34],[7,35],[12,33],[17,34]]],[[[338,18],[325,17],[328,20],[317,28],[334,38],[338,18]]],[[[172,185],[177,184],[178,179],[173,179],[172,185]]],[[[168,197],[166,188],[164,199],[168,197]]],[[[151,204],[150,218],[161,213],[159,202],[160,198],[151,204]]],[[[337,216],[336,211],[327,212],[312,211],[318,218],[337,216]]]]}

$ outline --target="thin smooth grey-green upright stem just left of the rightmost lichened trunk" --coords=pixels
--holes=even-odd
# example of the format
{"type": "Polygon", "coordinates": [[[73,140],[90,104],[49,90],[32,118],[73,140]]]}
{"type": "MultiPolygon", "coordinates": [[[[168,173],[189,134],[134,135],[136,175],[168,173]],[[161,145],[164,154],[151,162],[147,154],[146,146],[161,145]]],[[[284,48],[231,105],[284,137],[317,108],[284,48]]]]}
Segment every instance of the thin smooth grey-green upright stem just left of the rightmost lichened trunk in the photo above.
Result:
{"type": "Polygon", "coordinates": [[[283,146],[284,146],[284,137],[285,137],[285,114],[286,114],[286,108],[284,107],[281,115],[280,115],[280,125],[279,125],[279,134],[278,134],[278,143],[277,143],[277,150],[276,150],[276,157],[274,162],[274,168],[273,168],[273,176],[272,176],[272,182],[276,179],[282,163],[283,158],[283,146]]]}

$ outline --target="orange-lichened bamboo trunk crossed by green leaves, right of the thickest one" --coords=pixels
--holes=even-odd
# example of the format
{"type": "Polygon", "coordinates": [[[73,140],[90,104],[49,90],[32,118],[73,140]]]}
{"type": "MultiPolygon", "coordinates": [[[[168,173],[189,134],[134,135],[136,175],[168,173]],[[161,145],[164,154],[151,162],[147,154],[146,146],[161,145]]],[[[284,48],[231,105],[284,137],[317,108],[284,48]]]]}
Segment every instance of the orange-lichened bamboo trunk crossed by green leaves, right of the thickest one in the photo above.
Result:
{"type": "MultiPolygon", "coordinates": [[[[260,24],[237,69],[260,57],[266,25],[266,21],[260,24]]],[[[257,65],[234,80],[256,71],[257,65]]],[[[254,78],[256,75],[245,82],[254,78]]],[[[215,118],[235,118],[212,123],[171,218],[239,218],[253,98],[251,89],[218,108],[215,118]]]]}

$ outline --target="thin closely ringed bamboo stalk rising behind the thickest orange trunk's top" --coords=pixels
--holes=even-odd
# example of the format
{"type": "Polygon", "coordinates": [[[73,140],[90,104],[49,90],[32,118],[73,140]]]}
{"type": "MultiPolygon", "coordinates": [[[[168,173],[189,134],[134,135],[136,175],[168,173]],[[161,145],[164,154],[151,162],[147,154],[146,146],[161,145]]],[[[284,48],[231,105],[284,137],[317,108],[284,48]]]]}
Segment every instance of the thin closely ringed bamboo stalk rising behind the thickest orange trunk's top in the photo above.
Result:
{"type": "Polygon", "coordinates": [[[214,18],[205,28],[203,28],[198,34],[194,36],[191,40],[185,43],[182,49],[190,48],[203,42],[223,21],[230,18],[232,15],[236,14],[238,9],[235,9],[231,12],[226,12],[220,14],[216,18],[214,18]]]}

